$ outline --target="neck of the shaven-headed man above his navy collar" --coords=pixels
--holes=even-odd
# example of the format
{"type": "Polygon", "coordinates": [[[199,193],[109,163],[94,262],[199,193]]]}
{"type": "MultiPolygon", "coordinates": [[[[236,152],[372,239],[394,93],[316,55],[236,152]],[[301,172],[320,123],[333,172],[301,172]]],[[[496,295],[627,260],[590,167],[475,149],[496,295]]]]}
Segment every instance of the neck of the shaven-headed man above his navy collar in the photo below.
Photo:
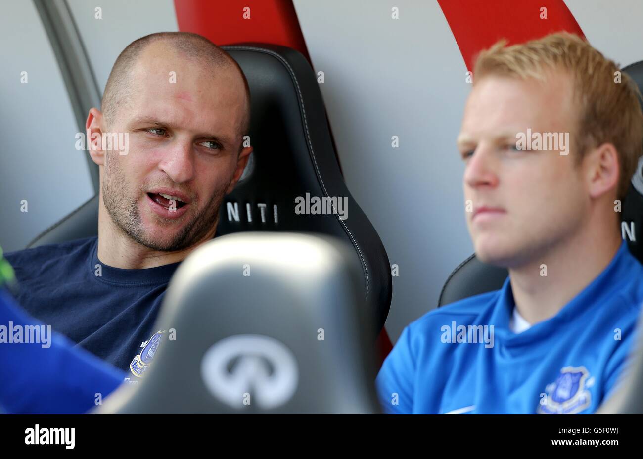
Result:
{"type": "Polygon", "coordinates": [[[214,237],[216,225],[200,242],[176,252],[150,249],[123,233],[100,206],[98,211],[98,260],[121,269],[146,269],[185,260],[196,248],[214,237]]]}

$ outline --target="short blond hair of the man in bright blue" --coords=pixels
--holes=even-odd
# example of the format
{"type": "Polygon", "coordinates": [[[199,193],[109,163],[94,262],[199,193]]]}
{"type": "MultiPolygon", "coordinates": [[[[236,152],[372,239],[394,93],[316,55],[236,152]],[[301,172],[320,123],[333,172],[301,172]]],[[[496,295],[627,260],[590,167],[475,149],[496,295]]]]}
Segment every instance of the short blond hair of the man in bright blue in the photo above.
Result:
{"type": "Polygon", "coordinates": [[[575,134],[577,161],[592,148],[611,143],[619,155],[617,197],[622,199],[643,154],[643,113],[637,84],[620,67],[577,35],[552,33],[524,44],[500,40],[476,59],[475,81],[484,76],[546,80],[547,71],[562,69],[572,76],[579,104],[575,134]],[[617,73],[618,72],[618,73],[617,73]]]}

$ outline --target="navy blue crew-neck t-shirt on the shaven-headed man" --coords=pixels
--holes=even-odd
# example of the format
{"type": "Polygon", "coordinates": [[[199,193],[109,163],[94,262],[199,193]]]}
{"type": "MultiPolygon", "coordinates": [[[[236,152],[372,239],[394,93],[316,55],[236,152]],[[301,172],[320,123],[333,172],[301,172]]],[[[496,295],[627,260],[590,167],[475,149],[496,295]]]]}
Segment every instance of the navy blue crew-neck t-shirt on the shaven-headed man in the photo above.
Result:
{"type": "Polygon", "coordinates": [[[92,237],[5,258],[18,281],[16,299],[31,316],[135,379],[129,367],[158,341],[154,322],[179,263],[120,269],[101,263],[97,249],[92,237]]]}

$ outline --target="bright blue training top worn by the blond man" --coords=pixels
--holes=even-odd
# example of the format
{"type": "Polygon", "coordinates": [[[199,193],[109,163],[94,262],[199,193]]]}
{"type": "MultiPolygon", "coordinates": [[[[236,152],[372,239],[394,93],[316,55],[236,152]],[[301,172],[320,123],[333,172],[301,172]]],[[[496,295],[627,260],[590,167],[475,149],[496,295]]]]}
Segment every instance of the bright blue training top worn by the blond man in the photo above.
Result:
{"type": "Polygon", "coordinates": [[[515,334],[509,278],[499,291],[406,327],[377,375],[386,413],[593,413],[635,343],[643,266],[626,242],[556,316],[515,334]]]}

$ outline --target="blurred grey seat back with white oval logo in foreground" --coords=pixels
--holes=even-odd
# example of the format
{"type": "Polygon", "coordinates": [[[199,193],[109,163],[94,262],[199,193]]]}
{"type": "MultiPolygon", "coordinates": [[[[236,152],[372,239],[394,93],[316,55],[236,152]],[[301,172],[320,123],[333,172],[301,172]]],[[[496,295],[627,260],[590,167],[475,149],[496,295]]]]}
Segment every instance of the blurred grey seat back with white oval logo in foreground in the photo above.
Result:
{"type": "Polygon", "coordinates": [[[168,285],[144,377],[98,412],[376,413],[376,330],[352,253],[302,233],[204,244],[168,285]]]}

